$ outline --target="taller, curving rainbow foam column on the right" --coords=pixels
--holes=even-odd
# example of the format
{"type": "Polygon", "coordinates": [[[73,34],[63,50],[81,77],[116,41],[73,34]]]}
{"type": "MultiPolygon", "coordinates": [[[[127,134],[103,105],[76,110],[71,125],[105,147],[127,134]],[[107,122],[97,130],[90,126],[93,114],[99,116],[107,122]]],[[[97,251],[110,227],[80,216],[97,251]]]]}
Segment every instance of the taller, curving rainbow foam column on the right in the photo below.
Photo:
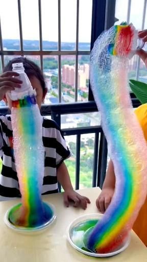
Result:
{"type": "Polygon", "coordinates": [[[85,246],[97,253],[114,251],[125,241],[147,192],[147,146],[127,82],[136,39],[132,25],[113,26],[97,38],[90,55],[91,89],[116,177],[108,209],[84,237],[85,246]]]}

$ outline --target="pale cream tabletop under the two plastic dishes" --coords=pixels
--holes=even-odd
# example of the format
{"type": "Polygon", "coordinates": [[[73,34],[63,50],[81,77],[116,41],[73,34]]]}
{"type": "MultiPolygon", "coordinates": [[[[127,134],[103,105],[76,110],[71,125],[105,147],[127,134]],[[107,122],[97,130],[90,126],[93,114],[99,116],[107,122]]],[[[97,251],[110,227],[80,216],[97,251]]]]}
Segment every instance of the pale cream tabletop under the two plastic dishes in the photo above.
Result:
{"type": "Polygon", "coordinates": [[[66,208],[63,205],[63,193],[46,195],[43,200],[52,203],[56,208],[57,219],[47,229],[40,233],[17,233],[4,223],[4,215],[8,208],[17,204],[17,200],[0,202],[0,254],[4,262],[86,262],[86,261],[118,261],[147,262],[147,248],[138,236],[131,232],[131,243],[122,253],[110,258],[95,258],[82,254],[70,246],[66,237],[68,225],[78,216],[87,213],[98,213],[95,200],[100,194],[100,188],[78,190],[89,197],[91,204],[86,210],[66,208]]]}

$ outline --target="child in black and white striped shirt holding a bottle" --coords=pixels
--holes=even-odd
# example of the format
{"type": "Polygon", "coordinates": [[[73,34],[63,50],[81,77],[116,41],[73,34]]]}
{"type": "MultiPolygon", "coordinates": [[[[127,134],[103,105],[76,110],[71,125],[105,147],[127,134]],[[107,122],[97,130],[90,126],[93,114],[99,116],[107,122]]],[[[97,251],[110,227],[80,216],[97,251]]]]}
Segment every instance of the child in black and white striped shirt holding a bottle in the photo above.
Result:
{"type": "MultiPolygon", "coordinates": [[[[12,63],[23,63],[33,88],[36,90],[36,99],[39,108],[44,101],[47,89],[43,74],[39,67],[24,57],[12,59],[4,68],[0,76],[0,100],[8,102],[11,110],[12,101],[7,92],[20,88],[21,81],[18,73],[12,72],[12,63]]],[[[58,192],[58,182],[64,189],[64,204],[68,207],[69,201],[74,201],[75,207],[86,209],[89,199],[80,195],[72,188],[69,173],[64,160],[70,157],[61,129],[53,120],[42,117],[42,141],[45,149],[44,178],[42,194],[58,192]]],[[[11,115],[0,116],[0,152],[3,161],[0,174],[0,201],[21,197],[19,183],[13,155],[13,131],[11,115]]]]}

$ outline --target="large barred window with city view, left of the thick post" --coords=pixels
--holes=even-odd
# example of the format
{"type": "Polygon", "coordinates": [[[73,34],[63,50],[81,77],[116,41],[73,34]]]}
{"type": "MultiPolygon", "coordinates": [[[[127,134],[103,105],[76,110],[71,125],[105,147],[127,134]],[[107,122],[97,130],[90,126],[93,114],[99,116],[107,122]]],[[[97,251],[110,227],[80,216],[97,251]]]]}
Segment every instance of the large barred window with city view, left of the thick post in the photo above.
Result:
{"type": "Polygon", "coordinates": [[[44,73],[45,103],[88,101],[91,16],[92,0],[1,0],[0,70],[26,56],[44,73]]]}

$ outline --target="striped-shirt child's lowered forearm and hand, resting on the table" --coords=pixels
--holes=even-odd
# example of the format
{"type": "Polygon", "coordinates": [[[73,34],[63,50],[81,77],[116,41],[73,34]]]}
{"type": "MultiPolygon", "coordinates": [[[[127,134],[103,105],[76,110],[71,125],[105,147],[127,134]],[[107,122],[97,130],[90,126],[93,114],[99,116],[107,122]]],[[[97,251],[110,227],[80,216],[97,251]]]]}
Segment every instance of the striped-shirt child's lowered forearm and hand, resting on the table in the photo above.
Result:
{"type": "Polygon", "coordinates": [[[90,203],[90,200],[83,195],[78,194],[76,191],[74,191],[69,173],[67,170],[67,167],[65,163],[63,162],[57,169],[57,179],[61,186],[64,189],[64,204],[66,207],[69,206],[69,201],[74,201],[74,207],[82,207],[83,209],[86,209],[87,203],[90,203]]]}

